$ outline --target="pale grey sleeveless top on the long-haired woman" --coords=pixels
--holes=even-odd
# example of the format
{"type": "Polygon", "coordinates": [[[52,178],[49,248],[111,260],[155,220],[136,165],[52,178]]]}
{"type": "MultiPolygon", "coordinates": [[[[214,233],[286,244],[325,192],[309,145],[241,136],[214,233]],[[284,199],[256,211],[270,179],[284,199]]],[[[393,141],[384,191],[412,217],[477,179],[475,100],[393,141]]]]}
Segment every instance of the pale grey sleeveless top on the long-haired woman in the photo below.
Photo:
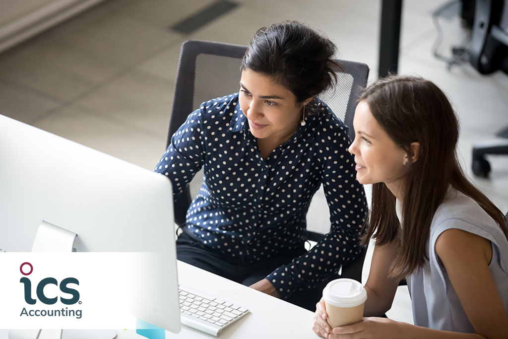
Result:
{"type": "MultiPolygon", "coordinates": [[[[397,215],[402,220],[398,200],[397,215]]],[[[492,261],[489,269],[508,314],[508,241],[499,226],[477,202],[451,188],[432,219],[427,246],[429,261],[406,278],[413,318],[418,326],[476,333],[434,250],[438,236],[451,228],[477,234],[491,241],[492,261]]]]}

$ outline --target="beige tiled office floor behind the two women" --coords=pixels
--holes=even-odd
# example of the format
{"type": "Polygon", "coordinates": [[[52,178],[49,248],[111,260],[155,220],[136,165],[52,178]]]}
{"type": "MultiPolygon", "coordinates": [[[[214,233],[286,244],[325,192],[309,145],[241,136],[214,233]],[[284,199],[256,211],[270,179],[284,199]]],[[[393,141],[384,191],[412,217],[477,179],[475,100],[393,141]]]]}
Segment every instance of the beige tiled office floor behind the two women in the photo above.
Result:
{"type": "MultiPolygon", "coordinates": [[[[165,150],[181,43],[245,45],[257,28],[286,19],[321,29],[339,46],[339,57],[366,63],[375,80],[379,0],[234,2],[234,9],[182,34],[171,27],[216,1],[106,0],[0,54],[0,114],[152,169],[165,150]]],[[[461,121],[459,156],[472,175],[471,146],[508,125],[508,76],[481,76],[467,64],[447,70],[432,55],[432,13],[447,2],[404,1],[399,74],[424,76],[450,96],[461,121]]],[[[449,55],[468,32],[458,17],[439,24],[438,51],[449,55]]],[[[473,181],[506,211],[508,157],[489,160],[490,178],[473,181]]],[[[411,321],[407,292],[400,295],[389,315],[411,321]]]]}

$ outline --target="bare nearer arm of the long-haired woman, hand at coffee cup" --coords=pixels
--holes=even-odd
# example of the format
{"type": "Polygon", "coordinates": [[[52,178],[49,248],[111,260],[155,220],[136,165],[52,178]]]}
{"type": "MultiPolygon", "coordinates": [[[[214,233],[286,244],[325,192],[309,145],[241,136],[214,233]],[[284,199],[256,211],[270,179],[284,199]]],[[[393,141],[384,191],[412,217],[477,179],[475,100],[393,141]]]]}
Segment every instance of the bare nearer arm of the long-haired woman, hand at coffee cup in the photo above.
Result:
{"type": "MultiPolygon", "coordinates": [[[[492,279],[490,241],[459,229],[441,233],[435,251],[477,333],[435,330],[381,318],[364,318],[337,327],[329,338],[501,339],[508,337],[508,316],[492,279]]],[[[370,277],[369,277],[370,278],[370,277]]]]}

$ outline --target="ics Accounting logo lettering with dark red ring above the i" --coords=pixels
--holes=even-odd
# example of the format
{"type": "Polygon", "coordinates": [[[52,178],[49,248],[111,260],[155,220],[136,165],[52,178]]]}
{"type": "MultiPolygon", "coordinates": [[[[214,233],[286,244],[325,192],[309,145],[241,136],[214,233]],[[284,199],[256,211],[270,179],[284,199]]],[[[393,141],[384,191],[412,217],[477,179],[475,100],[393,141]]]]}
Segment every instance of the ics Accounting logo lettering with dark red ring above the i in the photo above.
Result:
{"type": "MultiPolygon", "coordinates": [[[[32,266],[29,262],[24,262],[19,266],[19,270],[21,274],[23,274],[22,278],[19,280],[21,284],[24,285],[24,299],[25,302],[29,305],[37,304],[37,299],[45,305],[54,305],[60,300],[63,305],[75,305],[81,304],[79,300],[79,292],[74,287],[69,287],[69,285],[79,286],[79,281],[76,278],[66,278],[63,279],[59,284],[55,278],[44,278],[40,282],[37,283],[36,296],[37,299],[33,298],[32,295],[32,282],[27,276],[29,276],[34,271],[34,266],[32,266]],[[47,296],[44,288],[48,285],[56,285],[59,287],[62,295],[50,295],[47,296]]],[[[36,282],[34,282],[35,284],[36,282]]],[[[28,306],[27,306],[28,307],[28,306]]],[[[36,307],[41,308],[39,310],[29,309],[23,307],[21,311],[20,317],[76,317],[77,319],[81,319],[82,312],[81,310],[70,310],[69,307],[62,307],[61,309],[56,309],[56,307],[36,307]]]]}

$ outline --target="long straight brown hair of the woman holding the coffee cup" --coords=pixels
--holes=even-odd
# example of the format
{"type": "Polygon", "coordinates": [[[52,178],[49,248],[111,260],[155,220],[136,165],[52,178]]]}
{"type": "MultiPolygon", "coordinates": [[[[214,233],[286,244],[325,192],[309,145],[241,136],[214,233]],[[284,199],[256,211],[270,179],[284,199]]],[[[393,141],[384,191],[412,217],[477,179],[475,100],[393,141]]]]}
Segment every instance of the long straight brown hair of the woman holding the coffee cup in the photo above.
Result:
{"type": "Polygon", "coordinates": [[[508,238],[503,213],[465,177],[457,160],[459,125],[446,95],[431,81],[413,76],[379,79],[361,94],[372,115],[390,138],[412,157],[411,142],[420,143],[418,160],[405,174],[402,210],[403,236],[395,196],[385,183],[372,187],[370,226],[376,244],[396,241],[399,254],[392,266],[393,276],[407,276],[429,259],[426,251],[430,225],[450,184],[474,199],[508,238]]]}

